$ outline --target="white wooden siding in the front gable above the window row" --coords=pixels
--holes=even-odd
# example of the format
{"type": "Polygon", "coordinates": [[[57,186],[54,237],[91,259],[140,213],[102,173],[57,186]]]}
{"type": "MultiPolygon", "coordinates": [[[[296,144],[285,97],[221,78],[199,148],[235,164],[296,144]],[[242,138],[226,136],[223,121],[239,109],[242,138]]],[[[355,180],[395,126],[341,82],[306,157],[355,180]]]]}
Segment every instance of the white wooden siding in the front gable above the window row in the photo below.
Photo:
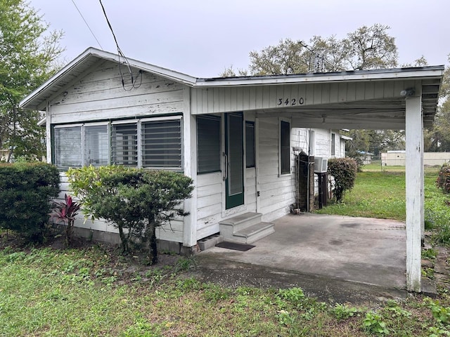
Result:
{"type": "MultiPolygon", "coordinates": [[[[127,79],[127,72],[122,72],[127,79]]],[[[125,91],[117,64],[103,63],[51,99],[51,123],[183,112],[183,84],[145,72],[141,76],[138,88],[125,91]]]]}

